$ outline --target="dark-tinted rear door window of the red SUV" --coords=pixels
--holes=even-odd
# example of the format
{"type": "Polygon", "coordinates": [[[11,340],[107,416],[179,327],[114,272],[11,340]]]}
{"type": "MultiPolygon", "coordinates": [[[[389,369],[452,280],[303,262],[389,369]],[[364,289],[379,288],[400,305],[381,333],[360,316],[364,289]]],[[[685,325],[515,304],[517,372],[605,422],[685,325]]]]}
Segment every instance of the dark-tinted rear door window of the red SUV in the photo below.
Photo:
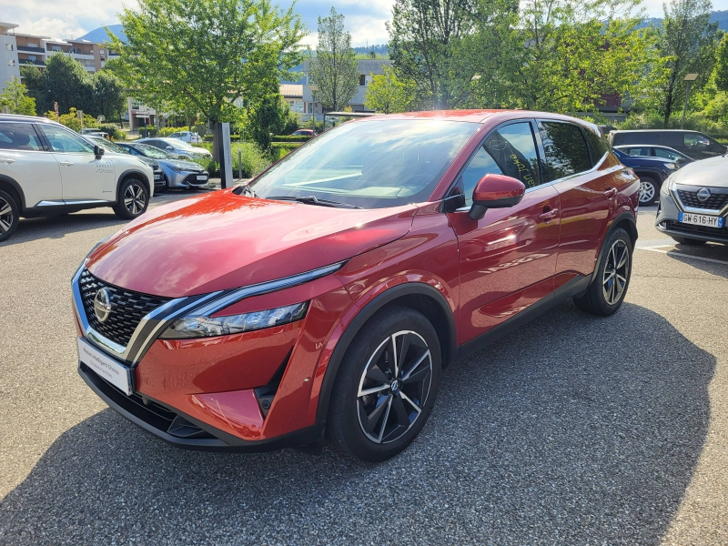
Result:
{"type": "Polygon", "coordinates": [[[546,154],[546,180],[571,177],[591,169],[591,157],[581,129],[569,123],[539,122],[546,154]]]}

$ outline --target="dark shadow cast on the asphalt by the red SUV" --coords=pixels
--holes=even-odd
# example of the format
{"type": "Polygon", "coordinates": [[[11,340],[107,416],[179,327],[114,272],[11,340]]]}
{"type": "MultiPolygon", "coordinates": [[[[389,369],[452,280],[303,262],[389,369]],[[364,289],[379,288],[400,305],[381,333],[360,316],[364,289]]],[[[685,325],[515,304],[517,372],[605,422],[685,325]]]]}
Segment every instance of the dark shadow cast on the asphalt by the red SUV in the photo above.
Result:
{"type": "Polygon", "coordinates": [[[444,370],[420,438],[379,465],[178,450],[103,410],[0,503],[0,542],[657,543],[714,366],[647,308],[564,303],[444,370]]]}

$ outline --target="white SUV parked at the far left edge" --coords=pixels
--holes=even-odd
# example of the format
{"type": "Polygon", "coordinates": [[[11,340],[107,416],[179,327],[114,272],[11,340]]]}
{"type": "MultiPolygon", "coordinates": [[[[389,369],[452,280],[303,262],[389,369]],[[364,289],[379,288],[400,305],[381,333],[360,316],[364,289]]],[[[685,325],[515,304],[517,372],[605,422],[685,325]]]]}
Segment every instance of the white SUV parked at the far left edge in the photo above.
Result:
{"type": "Polygon", "coordinates": [[[0,241],[19,217],[113,207],[136,218],[154,195],[151,167],[133,156],[104,155],[83,136],[45,117],[0,115],[0,241]]]}

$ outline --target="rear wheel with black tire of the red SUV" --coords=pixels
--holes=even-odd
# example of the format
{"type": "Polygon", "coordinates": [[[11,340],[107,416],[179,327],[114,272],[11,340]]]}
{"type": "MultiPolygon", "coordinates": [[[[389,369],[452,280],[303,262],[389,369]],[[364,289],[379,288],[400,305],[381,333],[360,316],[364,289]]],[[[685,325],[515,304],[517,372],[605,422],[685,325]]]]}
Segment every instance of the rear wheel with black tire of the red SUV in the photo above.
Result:
{"type": "Polygon", "coordinates": [[[632,277],[632,239],[624,229],[617,228],[604,242],[604,249],[596,277],[581,297],[573,298],[581,311],[600,317],[616,312],[627,294],[632,277]]]}

